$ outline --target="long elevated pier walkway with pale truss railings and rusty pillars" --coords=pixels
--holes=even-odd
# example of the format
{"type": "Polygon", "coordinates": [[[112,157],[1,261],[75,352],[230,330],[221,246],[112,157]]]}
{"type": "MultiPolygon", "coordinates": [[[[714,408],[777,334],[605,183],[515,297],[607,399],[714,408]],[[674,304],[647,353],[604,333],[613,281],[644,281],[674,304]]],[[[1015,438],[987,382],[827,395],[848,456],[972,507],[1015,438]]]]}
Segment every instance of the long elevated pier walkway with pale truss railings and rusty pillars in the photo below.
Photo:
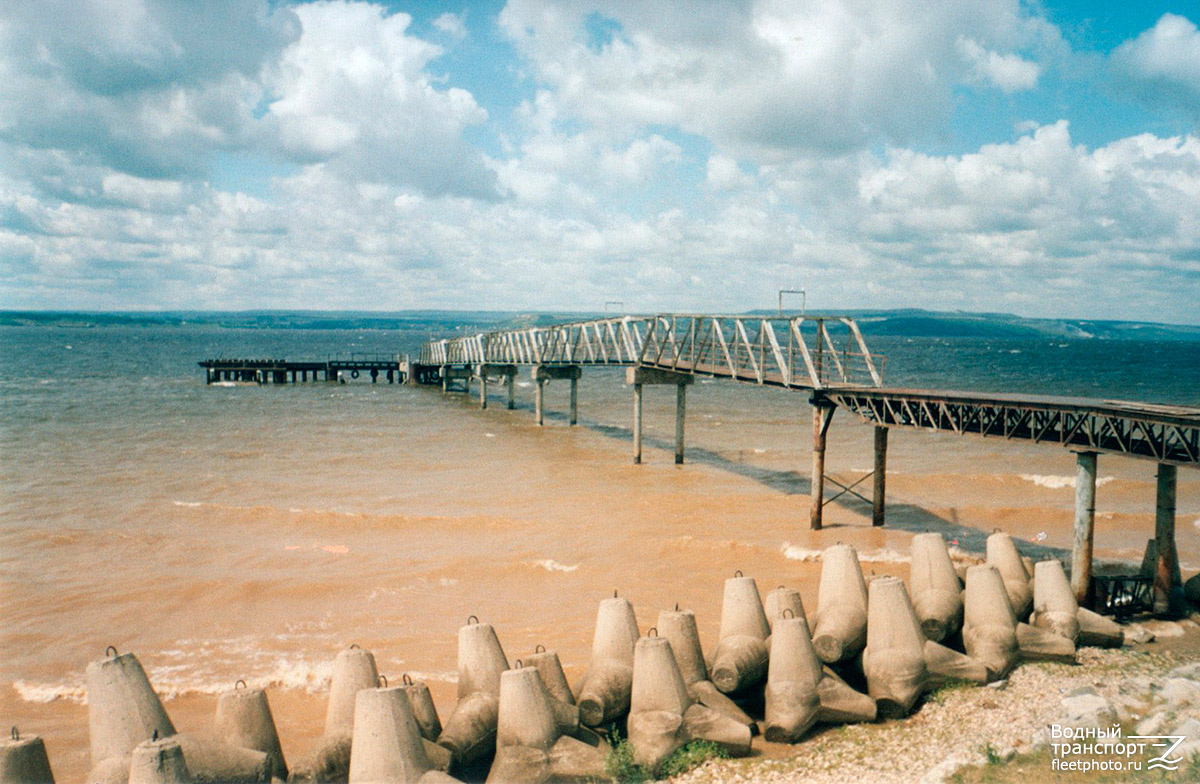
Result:
{"type": "MultiPolygon", "coordinates": [[[[479,383],[487,407],[491,379],[499,379],[514,406],[518,367],[535,382],[534,415],[544,423],[545,385],[571,384],[570,424],[577,423],[578,379],[587,366],[626,367],[634,390],[634,462],[642,460],[642,395],[647,385],[676,388],[676,462],[684,461],[686,388],[697,376],[803,391],[812,407],[812,502],[809,521],[822,526],[826,483],[872,505],[872,523],[886,519],[887,444],[892,427],[976,433],[1057,444],[1076,454],[1075,544],[1072,585],[1086,600],[1092,583],[1098,454],[1158,463],[1156,610],[1175,611],[1183,602],[1175,547],[1177,467],[1200,467],[1200,408],[1117,402],[1054,395],[1015,395],[883,385],[883,361],[869,351],[851,318],[822,316],[750,317],[712,315],[622,316],[484,333],[430,341],[409,379],[458,384],[469,393],[479,383]],[[872,496],[826,478],[826,436],[842,407],[875,425],[872,496]]],[[[865,480],[865,477],[864,479],[865,480]]],[[[859,480],[859,481],[863,481],[859,480]]],[[[836,497],[836,496],[835,496],[836,497]]],[[[830,498],[832,499],[832,498],[830,498]]]]}

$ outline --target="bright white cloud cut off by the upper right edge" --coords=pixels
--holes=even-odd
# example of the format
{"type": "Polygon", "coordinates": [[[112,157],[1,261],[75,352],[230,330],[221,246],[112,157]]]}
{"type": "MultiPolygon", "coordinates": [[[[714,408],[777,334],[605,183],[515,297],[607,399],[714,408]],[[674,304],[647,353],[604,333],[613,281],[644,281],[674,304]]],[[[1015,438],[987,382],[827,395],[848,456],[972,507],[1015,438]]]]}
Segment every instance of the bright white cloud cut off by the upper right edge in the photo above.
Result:
{"type": "Polygon", "coordinates": [[[1117,47],[1111,62],[1135,94],[1200,118],[1200,30],[1190,19],[1164,13],[1153,28],[1117,47]]]}

